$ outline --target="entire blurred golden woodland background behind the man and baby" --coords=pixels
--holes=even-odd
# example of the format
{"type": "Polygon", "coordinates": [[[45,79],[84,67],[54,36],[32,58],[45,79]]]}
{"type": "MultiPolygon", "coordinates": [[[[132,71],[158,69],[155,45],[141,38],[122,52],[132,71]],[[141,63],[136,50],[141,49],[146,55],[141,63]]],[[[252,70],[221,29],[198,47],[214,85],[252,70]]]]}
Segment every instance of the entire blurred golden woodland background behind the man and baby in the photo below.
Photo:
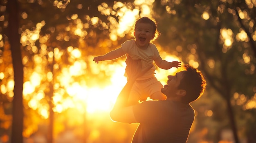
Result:
{"type": "MultiPolygon", "coordinates": [[[[0,143],[130,143],[111,121],[125,56],[93,57],[157,22],[160,55],[202,71],[188,143],[256,143],[255,0],[1,0],[0,143]],[[15,78],[14,78],[15,77],[15,78]]],[[[176,69],[157,69],[165,84],[176,69]]]]}

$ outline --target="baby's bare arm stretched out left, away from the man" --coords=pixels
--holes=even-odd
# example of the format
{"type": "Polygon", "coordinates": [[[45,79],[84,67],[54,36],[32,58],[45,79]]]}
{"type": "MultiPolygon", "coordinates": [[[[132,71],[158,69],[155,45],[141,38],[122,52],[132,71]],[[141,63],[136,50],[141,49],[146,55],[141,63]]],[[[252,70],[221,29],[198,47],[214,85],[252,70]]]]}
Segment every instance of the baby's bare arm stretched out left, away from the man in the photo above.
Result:
{"type": "Polygon", "coordinates": [[[113,59],[122,57],[123,55],[125,55],[123,49],[117,48],[116,50],[106,53],[105,55],[94,57],[93,61],[95,61],[95,63],[99,64],[99,61],[113,60],[113,59]]]}

